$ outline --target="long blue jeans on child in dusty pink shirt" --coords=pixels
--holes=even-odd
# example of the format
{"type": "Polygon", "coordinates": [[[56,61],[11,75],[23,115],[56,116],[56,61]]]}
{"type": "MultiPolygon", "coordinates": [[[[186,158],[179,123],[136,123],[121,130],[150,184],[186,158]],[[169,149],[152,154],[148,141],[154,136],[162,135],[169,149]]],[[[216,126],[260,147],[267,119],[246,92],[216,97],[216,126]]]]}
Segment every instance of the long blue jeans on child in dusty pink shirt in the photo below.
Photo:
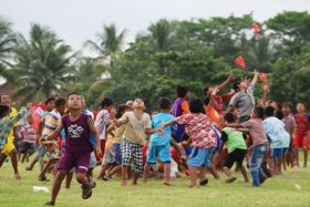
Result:
{"type": "Polygon", "coordinates": [[[260,177],[266,176],[262,172],[261,164],[264,159],[266,159],[267,152],[267,145],[257,145],[252,149],[249,166],[252,176],[252,186],[255,187],[258,187],[260,185],[260,177]]]}

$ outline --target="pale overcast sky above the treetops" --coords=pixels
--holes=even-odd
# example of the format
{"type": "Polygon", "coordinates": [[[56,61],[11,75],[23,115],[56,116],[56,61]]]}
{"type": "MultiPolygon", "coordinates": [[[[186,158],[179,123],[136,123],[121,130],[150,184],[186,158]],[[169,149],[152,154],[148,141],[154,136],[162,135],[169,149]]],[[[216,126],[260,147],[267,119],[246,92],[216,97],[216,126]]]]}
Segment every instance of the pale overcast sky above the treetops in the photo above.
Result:
{"type": "Polygon", "coordinates": [[[126,42],[151,22],[166,18],[242,15],[252,12],[264,21],[283,10],[310,11],[309,0],[0,0],[0,15],[28,37],[30,23],[50,27],[59,37],[80,50],[94,39],[103,23],[127,29],[126,42]]]}

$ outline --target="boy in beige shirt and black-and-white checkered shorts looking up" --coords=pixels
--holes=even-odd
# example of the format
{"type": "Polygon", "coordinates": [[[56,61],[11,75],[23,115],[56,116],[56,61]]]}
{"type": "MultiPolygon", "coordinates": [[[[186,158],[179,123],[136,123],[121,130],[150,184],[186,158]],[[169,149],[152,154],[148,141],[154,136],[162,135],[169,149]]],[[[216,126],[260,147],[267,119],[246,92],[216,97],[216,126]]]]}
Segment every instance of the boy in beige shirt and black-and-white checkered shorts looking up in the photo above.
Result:
{"type": "Polygon", "coordinates": [[[133,111],[126,112],[114,124],[120,127],[125,125],[124,141],[122,147],[122,186],[127,185],[128,167],[133,167],[133,185],[137,185],[140,174],[143,172],[142,147],[146,139],[146,134],[159,133],[162,128],[152,128],[151,117],[144,113],[145,105],[143,100],[136,99],[133,104],[133,111]],[[132,163],[131,163],[132,162],[132,163]]]}

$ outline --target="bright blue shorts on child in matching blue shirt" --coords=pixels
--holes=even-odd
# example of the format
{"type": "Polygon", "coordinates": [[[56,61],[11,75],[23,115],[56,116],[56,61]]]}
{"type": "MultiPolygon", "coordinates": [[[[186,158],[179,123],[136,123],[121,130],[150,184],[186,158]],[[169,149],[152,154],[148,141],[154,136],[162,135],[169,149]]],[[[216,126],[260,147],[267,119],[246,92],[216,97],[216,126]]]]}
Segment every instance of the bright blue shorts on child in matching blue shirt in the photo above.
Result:
{"type": "Polygon", "coordinates": [[[170,144],[168,143],[166,145],[153,145],[151,143],[147,149],[146,163],[156,164],[156,157],[159,157],[161,162],[163,163],[170,163],[170,144]]]}

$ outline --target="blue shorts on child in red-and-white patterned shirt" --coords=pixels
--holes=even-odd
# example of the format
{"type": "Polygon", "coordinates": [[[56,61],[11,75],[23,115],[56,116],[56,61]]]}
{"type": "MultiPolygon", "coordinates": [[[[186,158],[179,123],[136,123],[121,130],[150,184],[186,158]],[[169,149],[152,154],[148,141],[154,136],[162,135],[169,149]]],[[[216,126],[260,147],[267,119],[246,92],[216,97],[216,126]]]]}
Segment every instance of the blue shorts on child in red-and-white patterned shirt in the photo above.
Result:
{"type": "Polygon", "coordinates": [[[209,148],[193,148],[192,154],[187,159],[187,165],[193,167],[209,167],[211,165],[211,157],[215,148],[215,146],[209,148]]]}

